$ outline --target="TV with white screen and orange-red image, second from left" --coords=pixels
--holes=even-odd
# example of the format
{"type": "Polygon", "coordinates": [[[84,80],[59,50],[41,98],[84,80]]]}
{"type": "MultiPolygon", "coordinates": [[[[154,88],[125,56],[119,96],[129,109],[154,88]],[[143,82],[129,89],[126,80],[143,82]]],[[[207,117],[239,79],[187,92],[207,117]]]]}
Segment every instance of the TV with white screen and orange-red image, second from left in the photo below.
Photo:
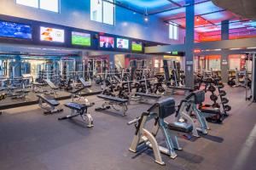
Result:
{"type": "Polygon", "coordinates": [[[64,30],[40,27],[40,40],[46,42],[64,42],[64,30]]]}

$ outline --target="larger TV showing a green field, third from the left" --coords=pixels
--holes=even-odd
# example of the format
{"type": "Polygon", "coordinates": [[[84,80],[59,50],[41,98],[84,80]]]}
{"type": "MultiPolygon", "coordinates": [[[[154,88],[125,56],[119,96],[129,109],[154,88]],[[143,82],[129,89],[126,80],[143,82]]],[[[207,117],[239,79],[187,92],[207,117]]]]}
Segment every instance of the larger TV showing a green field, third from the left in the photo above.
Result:
{"type": "Polygon", "coordinates": [[[72,44],[90,47],[90,34],[73,31],[72,44]]]}

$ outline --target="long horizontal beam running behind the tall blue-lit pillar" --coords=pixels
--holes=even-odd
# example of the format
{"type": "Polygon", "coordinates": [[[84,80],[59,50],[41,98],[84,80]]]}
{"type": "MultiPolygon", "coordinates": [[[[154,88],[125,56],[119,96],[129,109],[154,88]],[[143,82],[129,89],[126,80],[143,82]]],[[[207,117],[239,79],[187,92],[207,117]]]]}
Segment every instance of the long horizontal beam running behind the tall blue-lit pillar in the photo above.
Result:
{"type": "MultiPolygon", "coordinates": [[[[256,47],[256,37],[222,40],[215,42],[198,42],[195,43],[195,48],[203,49],[227,49],[227,48],[253,48],[256,47]]],[[[185,44],[154,46],[145,48],[145,53],[166,53],[171,51],[185,51],[185,44]]]]}

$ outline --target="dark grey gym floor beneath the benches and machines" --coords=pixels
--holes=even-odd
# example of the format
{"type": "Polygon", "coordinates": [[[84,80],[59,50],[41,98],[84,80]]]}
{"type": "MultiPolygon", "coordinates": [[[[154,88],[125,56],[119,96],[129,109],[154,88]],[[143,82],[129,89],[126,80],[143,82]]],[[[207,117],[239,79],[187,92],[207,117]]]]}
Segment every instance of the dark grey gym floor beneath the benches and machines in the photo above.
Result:
{"type": "MultiPolygon", "coordinates": [[[[3,111],[0,116],[1,170],[254,170],[256,160],[256,104],[244,99],[244,88],[227,88],[232,111],[224,124],[209,123],[212,130],[199,139],[179,139],[183,146],[172,160],[163,155],[166,166],[154,163],[151,150],[139,154],[128,149],[135,133],[127,126],[150,105],[130,105],[123,117],[110,111],[90,112],[95,127],[87,128],[77,117],[73,121],[57,121],[69,114],[44,116],[38,105],[3,111]]],[[[177,101],[183,96],[173,96],[177,101]]],[[[96,96],[88,97],[96,105],[96,96]]],[[[61,104],[67,100],[61,101],[61,104]]],[[[172,121],[168,119],[168,121],[172,121]]],[[[162,140],[162,137],[158,138],[162,140]]]]}

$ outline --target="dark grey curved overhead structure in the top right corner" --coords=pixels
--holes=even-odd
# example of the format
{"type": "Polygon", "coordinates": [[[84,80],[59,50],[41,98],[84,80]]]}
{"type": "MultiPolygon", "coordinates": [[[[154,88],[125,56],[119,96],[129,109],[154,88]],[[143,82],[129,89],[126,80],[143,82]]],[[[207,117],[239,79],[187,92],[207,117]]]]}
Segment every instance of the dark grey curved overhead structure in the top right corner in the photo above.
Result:
{"type": "Polygon", "coordinates": [[[255,0],[212,0],[212,3],[220,8],[230,10],[241,17],[256,20],[255,0]]]}

